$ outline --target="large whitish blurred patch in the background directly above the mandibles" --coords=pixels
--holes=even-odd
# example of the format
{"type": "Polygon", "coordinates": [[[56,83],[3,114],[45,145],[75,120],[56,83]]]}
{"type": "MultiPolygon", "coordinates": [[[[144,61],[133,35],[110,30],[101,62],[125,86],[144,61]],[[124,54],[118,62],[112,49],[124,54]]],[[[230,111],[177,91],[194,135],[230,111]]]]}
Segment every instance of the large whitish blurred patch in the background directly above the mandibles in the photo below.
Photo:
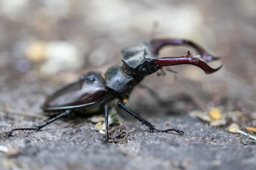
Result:
{"type": "Polygon", "coordinates": [[[151,32],[152,23],[157,20],[160,23],[158,32],[165,36],[192,37],[202,24],[204,15],[197,6],[184,4],[182,6],[158,6],[154,10],[139,10],[134,18],[134,26],[140,30],[151,32]],[[136,25],[135,25],[136,24],[136,25]],[[189,29],[188,29],[189,28],[189,29]]]}

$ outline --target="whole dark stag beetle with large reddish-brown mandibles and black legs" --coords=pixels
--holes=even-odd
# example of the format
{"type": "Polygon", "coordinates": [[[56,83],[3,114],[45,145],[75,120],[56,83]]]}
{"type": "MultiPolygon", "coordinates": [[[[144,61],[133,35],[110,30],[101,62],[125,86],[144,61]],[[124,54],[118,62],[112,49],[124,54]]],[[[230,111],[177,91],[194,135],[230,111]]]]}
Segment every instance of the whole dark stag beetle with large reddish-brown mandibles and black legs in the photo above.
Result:
{"type": "MultiPolygon", "coordinates": [[[[138,85],[143,78],[149,74],[157,72],[157,75],[165,75],[164,70],[172,71],[169,68],[163,67],[171,65],[190,64],[201,68],[206,74],[211,74],[218,71],[222,65],[216,69],[209,67],[206,62],[218,60],[220,57],[214,57],[199,45],[189,40],[180,39],[153,39],[149,43],[143,43],[137,47],[130,47],[122,49],[124,59],[120,64],[113,65],[108,68],[105,74],[99,72],[89,72],[79,77],[75,82],[64,86],[60,90],[48,97],[42,109],[49,112],[58,112],[58,116],[48,120],[42,125],[29,128],[17,128],[9,131],[8,135],[15,130],[40,130],[49,125],[55,120],[76,113],[93,113],[105,110],[105,137],[108,139],[108,101],[118,98],[120,101],[117,106],[127,113],[134,116],[142,124],[148,126],[150,131],[176,131],[182,135],[183,131],[178,129],[158,130],[151,123],[143,119],[137,113],[125,107],[131,91],[135,85],[138,85]],[[181,57],[163,57],[157,58],[160,48],[165,45],[182,45],[187,44],[194,47],[200,54],[195,56],[188,53],[181,57]],[[62,113],[61,113],[62,112],[62,113]]],[[[183,133],[184,134],[184,133],[183,133]]]]}

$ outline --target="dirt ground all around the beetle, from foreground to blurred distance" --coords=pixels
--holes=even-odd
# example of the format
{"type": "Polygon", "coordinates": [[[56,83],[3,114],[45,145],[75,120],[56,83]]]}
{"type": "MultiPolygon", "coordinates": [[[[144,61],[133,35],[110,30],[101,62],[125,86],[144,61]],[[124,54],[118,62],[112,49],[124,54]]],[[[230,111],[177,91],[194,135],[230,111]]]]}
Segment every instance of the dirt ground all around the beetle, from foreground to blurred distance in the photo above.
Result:
{"type": "MultiPolygon", "coordinates": [[[[256,127],[255,1],[0,3],[0,169],[255,169],[256,141],[227,130],[236,123],[255,135],[246,129],[256,127]],[[47,95],[87,71],[104,72],[119,63],[122,48],[149,41],[154,21],[159,26],[153,37],[192,40],[221,56],[211,67],[224,65],[209,75],[180,65],[172,67],[177,79],[172,73],[146,77],[142,84],[154,89],[163,104],[143,88],[131,94],[128,108],[159,129],[183,130],[183,136],[150,133],[116,108],[125,124],[111,126],[109,142],[80,116],[6,137],[13,128],[49,119],[40,109],[47,95]],[[219,109],[223,124],[198,117],[213,108],[219,109]]],[[[197,54],[189,46],[176,46],[164,48],[160,56],[180,56],[187,50],[197,54]]]]}

